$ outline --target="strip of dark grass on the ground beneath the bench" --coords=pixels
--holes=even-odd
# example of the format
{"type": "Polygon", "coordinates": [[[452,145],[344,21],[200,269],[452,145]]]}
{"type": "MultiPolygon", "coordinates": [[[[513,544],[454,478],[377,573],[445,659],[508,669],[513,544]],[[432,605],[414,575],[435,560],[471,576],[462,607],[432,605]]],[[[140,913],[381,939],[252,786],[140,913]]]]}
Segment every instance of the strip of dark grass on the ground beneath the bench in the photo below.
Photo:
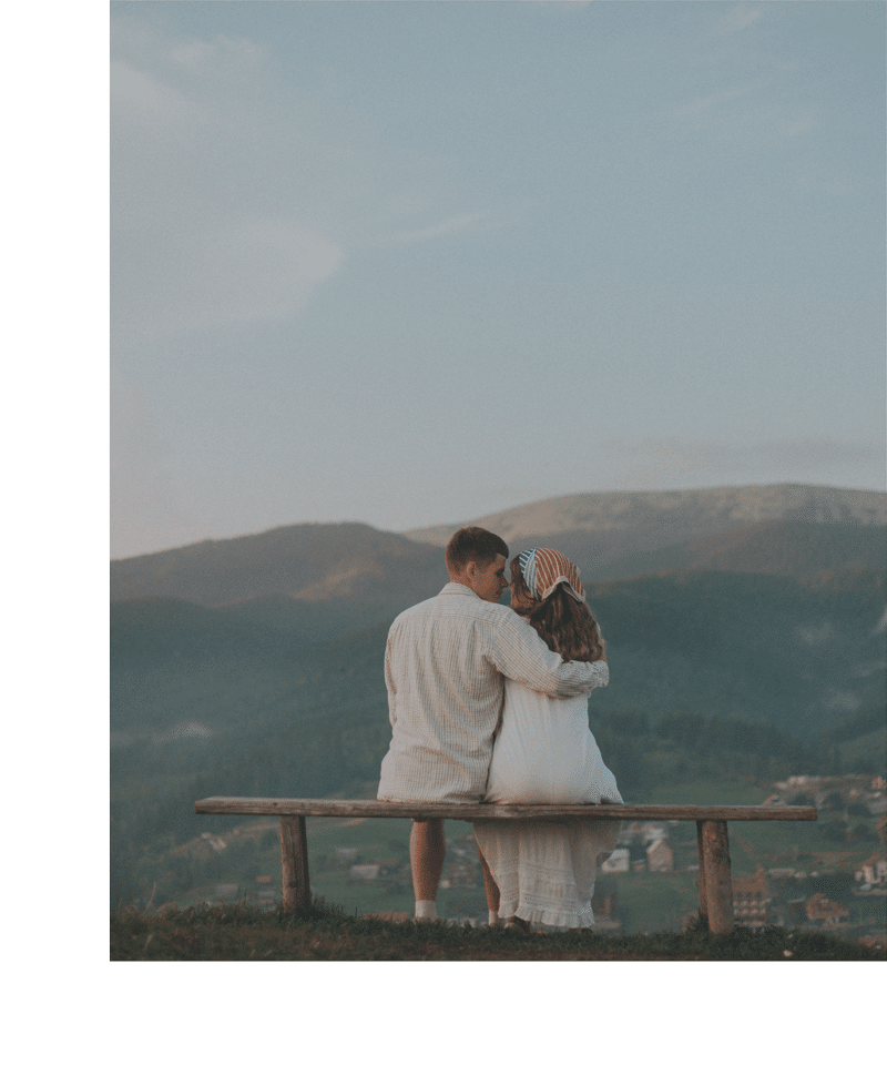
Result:
{"type": "Polygon", "coordinates": [[[884,952],[824,933],[766,927],[712,935],[549,935],[395,924],[349,916],[315,897],[303,912],[245,904],[111,912],[111,961],[883,961],[884,952]]]}

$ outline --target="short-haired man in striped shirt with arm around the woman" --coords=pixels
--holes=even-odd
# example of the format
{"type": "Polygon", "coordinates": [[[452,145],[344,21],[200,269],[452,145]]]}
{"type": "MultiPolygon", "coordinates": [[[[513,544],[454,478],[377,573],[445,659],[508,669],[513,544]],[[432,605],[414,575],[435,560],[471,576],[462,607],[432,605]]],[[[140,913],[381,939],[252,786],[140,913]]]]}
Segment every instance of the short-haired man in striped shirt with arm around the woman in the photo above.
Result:
{"type": "MultiPolygon", "coordinates": [[[[459,529],[446,557],[449,582],[434,599],[399,615],[388,633],[385,683],[392,737],[378,798],[391,802],[483,798],[504,677],[557,698],[587,694],[600,683],[590,662],[564,662],[499,604],[509,584],[504,540],[477,526],[459,529]]],[[[432,921],[443,822],[414,820],[409,852],[416,919],[432,921]]],[[[486,882],[486,866],[483,875],[486,882]]],[[[497,923],[492,911],[490,923],[497,923]]]]}

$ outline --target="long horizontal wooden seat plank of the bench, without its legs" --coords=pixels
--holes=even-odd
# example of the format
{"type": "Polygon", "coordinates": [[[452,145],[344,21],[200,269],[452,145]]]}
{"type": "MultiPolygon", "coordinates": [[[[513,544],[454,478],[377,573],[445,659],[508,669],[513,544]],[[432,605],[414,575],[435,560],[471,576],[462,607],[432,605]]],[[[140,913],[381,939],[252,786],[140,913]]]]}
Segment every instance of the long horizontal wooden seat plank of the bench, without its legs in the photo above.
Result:
{"type": "Polygon", "coordinates": [[[815,821],[815,807],[569,805],[380,802],[376,799],[198,799],[195,813],[308,818],[443,818],[457,821],[590,818],[594,821],[815,821]]]}

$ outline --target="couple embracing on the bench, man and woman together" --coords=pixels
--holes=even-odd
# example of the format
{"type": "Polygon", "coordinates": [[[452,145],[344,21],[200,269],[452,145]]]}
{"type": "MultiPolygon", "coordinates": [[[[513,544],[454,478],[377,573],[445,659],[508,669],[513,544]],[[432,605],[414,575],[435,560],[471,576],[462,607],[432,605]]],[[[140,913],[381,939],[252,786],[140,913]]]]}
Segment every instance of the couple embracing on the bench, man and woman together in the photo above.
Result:
{"type": "MultiPolygon", "coordinates": [[[[449,582],[401,613],[385,652],[392,738],[378,798],[391,802],[621,803],[589,730],[588,697],[609,681],[606,649],[579,570],[560,551],[523,551],[460,529],[449,582]],[[511,607],[499,598],[510,585],[511,607]]],[[[490,924],[584,929],[598,860],[619,821],[475,822],[490,924]]],[[[416,919],[437,919],[443,822],[415,819],[416,919]]]]}

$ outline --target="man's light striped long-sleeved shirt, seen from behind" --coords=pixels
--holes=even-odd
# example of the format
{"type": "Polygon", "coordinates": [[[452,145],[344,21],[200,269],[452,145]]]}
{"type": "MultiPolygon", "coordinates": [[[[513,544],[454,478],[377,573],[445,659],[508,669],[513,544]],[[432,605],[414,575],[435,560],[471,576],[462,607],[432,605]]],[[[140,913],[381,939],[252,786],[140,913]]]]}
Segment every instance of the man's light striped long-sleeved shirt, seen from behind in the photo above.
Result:
{"type": "Polygon", "coordinates": [[[479,802],[504,678],[567,699],[608,683],[606,662],[564,662],[510,607],[450,582],[395,619],[385,649],[392,737],[378,798],[479,802]]]}

